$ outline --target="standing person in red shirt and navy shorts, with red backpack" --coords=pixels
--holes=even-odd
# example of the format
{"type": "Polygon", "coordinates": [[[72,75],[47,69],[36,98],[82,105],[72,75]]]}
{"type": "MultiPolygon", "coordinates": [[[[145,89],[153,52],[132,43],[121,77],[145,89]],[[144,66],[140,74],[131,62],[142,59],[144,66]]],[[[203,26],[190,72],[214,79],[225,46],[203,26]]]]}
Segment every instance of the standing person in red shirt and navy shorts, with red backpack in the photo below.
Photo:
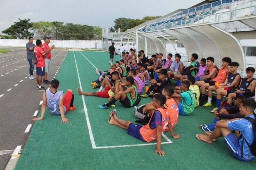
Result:
{"type": "Polygon", "coordinates": [[[36,47],[34,49],[34,52],[36,53],[37,63],[36,63],[36,81],[37,81],[37,90],[45,90],[42,86],[42,78],[45,74],[45,62],[44,58],[46,57],[46,54],[44,53],[42,47],[42,41],[36,40],[36,47]]]}

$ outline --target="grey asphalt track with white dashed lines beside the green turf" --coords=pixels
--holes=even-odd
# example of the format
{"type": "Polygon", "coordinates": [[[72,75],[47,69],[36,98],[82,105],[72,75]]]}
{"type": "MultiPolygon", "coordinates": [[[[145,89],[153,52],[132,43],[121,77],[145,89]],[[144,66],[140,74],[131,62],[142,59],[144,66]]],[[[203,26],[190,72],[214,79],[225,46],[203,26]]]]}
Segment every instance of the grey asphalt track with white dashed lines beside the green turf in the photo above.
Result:
{"type": "MultiPolygon", "coordinates": [[[[37,91],[36,79],[29,79],[29,64],[25,48],[10,48],[10,53],[0,53],[0,170],[7,165],[10,154],[1,151],[22,148],[28,140],[42,100],[43,91],[37,91]],[[32,127],[25,133],[28,124],[32,127]]],[[[52,50],[52,62],[47,77],[51,81],[67,51],[52,50]]],[[[34,68],[36,70],[36,67],[34,68]]],[[[36,71],[34,71],[36,77],[36,71]]],[[[43,85],[49,87],[49,85],[43,85]]]]}

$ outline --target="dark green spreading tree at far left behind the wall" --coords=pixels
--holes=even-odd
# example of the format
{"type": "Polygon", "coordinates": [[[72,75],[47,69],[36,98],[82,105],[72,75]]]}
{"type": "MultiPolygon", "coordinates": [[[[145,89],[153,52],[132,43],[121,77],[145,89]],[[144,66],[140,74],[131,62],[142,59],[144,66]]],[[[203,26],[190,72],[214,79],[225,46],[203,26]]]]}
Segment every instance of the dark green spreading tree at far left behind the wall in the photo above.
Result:
{"type": "Polygon", "coordinates": [[[15,39],[28,39],[28,37],[33,36],[33,33],[29,32],[33,26],[33,23],[29,22],[30,19],[18,19],[20,21],[14,22],[13,25],[2,31],[2,33],[10,35],[15,39]]]}

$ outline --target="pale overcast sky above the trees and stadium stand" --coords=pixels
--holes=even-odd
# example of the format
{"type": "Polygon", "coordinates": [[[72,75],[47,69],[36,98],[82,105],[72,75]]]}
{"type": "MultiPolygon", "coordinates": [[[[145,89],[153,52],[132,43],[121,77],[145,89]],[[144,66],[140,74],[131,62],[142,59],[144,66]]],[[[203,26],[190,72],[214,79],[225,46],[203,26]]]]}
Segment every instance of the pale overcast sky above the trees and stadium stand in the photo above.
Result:
{"type": "Polygon", "coordinates": [[[141,19],[145,16],[166,15],[187,9],[203,0],[1,0],[0,34],[18,18],[37,21],[62,21],[110,28],[116,18],[141,19]]]}

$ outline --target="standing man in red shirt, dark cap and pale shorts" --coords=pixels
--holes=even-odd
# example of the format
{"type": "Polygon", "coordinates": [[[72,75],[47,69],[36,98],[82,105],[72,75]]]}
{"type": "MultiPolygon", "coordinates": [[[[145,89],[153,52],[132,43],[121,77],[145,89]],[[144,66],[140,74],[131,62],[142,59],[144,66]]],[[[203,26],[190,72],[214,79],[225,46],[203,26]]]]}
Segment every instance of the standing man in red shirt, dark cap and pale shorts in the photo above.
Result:
{"type": "Polygon", "coordinates": [[[46,58],[45,58],[45,76],[44,76],[44,80],[43,80],[43,83],[45,85],[49,85],[51,83],[47,79],[47,73],[49,72],[50,65],[51,65],[51,51],[55,47],[54,45],[52,45],[51,48],[48,46],[48,44],[50,43],[50,39],[51,39],[51,37],[44,36],[44,44],[42,44],[42,49],[44,50],[44,53],[46,54],[46,58]]]}

